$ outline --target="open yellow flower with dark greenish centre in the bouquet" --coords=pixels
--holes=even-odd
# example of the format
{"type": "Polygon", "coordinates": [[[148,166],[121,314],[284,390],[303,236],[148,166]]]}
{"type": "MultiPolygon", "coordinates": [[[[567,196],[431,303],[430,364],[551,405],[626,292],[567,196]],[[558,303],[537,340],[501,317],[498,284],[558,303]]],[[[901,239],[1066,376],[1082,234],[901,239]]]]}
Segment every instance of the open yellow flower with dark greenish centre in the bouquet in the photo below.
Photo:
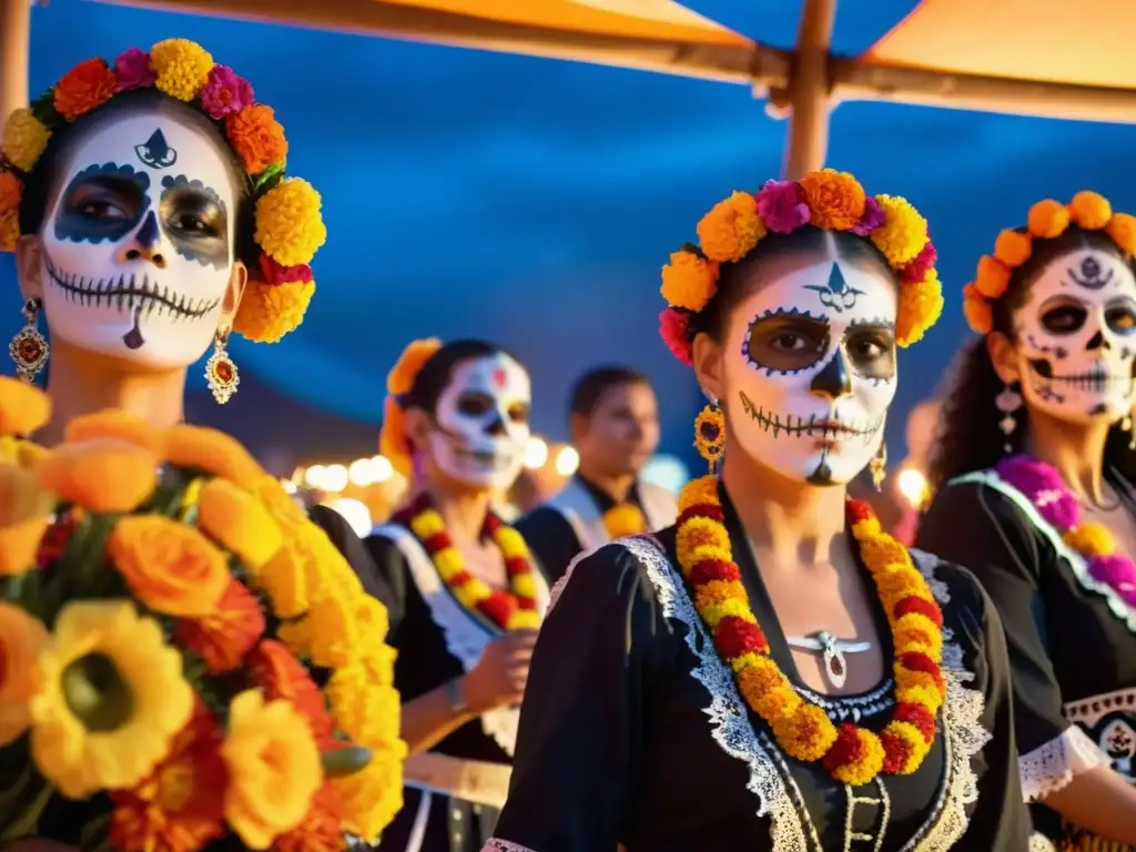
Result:
{"type": "Polygon", "coordinates": [[[182,655],[130,601],[78,601],[56,620],[31,701],[32,757],[68,799],[131,787],[193,712],[182,655]]]}

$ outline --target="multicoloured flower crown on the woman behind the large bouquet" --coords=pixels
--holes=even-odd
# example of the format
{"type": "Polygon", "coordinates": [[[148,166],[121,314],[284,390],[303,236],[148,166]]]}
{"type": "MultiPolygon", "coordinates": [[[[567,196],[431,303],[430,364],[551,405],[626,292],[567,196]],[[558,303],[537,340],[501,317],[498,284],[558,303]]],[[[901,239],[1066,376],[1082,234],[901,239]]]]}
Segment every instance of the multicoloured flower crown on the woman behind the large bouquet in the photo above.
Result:
{"type": "Polygon", "coordinates": [[[308,264],[327,239],[319,193],[307,181],[285,177],[287,140],[273,108],[257,103],[248,81],[215,64],[192,41],[167,39],[149,53],[131,48],[114,66],[87,59],[30,109],[8,117],[0,144],[0,251],[16,248],[24,178],[52,133],[119,92],[150,87],[212,119],[244,166],[256,203],[260,268],[249,270],[233,327],[249,340],[275,343],[300,325],[316,290],[308,264]]]}

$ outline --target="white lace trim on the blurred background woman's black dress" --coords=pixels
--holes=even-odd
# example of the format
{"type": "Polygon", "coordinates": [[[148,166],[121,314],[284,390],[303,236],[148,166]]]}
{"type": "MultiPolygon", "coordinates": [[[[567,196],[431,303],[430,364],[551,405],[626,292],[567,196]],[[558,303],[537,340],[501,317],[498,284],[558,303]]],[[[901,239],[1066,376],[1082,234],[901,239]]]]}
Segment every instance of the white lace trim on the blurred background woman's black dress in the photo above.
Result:
{"type": "MultiPolygon", "coordinates": [[[[426,602],[431,619],[442,632],[446,651],[461,663],[463,671],[473,669],[485,653],[485,648],[500,634],[492,632],[474,617],[450,593],[426,549],[414,533],[398,524],[386,524],[375,527],[371,535],[381,535],[399,549],[410,568],[410,578],[426,602]]],[[[535,566],[533,578],[536,584],[536,610],[544,615],[548,612],[550,599],[548,583],[535,566]]],[[[498,708],[481,717],[482,729],[487,736],[493,737],[510,758],[517,746],[520,710],[515,707],[498,708]]]]}

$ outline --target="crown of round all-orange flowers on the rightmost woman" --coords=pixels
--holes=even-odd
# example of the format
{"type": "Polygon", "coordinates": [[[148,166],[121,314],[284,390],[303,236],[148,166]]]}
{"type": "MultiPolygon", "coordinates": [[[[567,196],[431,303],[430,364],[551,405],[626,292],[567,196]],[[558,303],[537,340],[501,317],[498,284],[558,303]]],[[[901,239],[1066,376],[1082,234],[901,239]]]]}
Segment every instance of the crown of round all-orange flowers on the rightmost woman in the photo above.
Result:
{"type": "Polygon", "coordinates": [[[994,302],[1010,286],[1013,270],[1029,260],[1034,240],[1055,240],[1076,225],[1083,231],[1103,231],[1126,254],[1136,254],[1136,216],[1112,212],[1109,200],[1095,192],[1078,192],[1062,204],[1053,199],[1029,208],[1026,232],[1003,231],[994,241],[994,254],[978,259],[975,279],[962,289],[962,312],[971,331],[989,334],[994,327],[994,302]]]}

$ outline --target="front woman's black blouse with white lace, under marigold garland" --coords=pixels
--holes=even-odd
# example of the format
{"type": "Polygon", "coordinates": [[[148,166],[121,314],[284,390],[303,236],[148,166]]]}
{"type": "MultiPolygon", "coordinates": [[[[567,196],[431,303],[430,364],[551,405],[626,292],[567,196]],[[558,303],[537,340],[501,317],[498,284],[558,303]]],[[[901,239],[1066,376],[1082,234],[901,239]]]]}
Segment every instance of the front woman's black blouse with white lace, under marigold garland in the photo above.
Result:
{"type": "MultiPolygon", "coordinates": [[[[726,508],[732,540],[745,541],[726,508]]],[[[953,662],[951,650],[944,654],[952,686],[934,747],[914,774],[853,790],[776,746],[693,609],[675,528],[658,534],[661,551],[646,541],[580,560],[553,601],[529,673],[509,801],[487,850],[1027,849],[1004,640],[967,571],[919,557],[949,600],[957,646],[953,662]]],[[[799,692],[834,721],[882,728],[891,678],[859,696],[807,690],[752,554],[735,545],[735,558],[774,659],[799,692]]]]}

